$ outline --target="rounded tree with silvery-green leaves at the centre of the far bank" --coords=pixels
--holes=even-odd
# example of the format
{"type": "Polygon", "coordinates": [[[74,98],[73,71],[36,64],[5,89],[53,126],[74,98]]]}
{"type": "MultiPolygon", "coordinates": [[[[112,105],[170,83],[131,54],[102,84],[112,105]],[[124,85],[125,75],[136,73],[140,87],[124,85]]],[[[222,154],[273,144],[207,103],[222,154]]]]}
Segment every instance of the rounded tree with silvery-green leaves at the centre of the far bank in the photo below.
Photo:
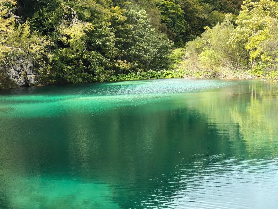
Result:
{"type": "Polygon", "coordinates": [[[118,49],[116,62],[129,66],[129,71],[167,68],[171,44],[156,33],[147,13],[131,3],[124,10],[113,10],[118,14],[111,25],[118,49]]]}

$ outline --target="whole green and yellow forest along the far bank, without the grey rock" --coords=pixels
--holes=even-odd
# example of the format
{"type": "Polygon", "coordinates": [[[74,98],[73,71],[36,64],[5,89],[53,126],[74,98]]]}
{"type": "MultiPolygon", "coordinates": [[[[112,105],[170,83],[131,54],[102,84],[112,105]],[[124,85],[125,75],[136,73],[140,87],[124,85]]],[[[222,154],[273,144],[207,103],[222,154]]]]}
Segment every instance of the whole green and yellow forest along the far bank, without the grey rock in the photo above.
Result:
{"type": "Polygon", "coordinates": [[[30,62],[43,85],[278,80],[276,1],[2,0],[0,19],[0,89],[30,62]]]}

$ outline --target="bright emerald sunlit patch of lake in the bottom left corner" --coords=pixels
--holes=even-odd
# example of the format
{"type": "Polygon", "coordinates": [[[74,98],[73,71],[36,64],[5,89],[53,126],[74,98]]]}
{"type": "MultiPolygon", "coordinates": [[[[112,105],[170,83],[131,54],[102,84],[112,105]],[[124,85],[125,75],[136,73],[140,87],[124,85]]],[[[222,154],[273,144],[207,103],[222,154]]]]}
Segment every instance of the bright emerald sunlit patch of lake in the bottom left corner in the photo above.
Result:
{"type": "Polygon", "coordinates": [[[13,179],[6,185],[11,208],[120,209],[107,183],[31,176],[13,179]]]}

